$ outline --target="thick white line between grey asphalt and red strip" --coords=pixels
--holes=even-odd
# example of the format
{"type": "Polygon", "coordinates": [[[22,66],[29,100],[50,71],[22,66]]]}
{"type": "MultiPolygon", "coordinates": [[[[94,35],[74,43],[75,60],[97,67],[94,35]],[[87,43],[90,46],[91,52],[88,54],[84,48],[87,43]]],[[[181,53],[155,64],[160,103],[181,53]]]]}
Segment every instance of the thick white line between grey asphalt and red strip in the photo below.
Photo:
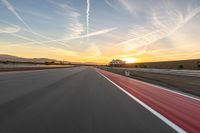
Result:
{"type": "Polygon", "coordinates": [[[112,80],[110,80],[109,78],[107,78],[106,76],[104,76],[103,74],[101,74],[98,71],[97,71],[97,73],[99,73],[102,77],[104,77],[105,79],[107,79],[108,81],[110,81],[112,84],[114,84],[116,87],[118,87],[121,91],[123,91],[125,94],[127,94],[129,97],[131,97],[133,100],[135,100],[136,102],[138,102],[144,108],[146,108],[147,110],[149,110],[151,113],[153,113],[155,116],[157,116],[159,119],[161,119],[164,123],[166,123],[171,128],[173,128],[175,131],[177,131],[178,133],[187,133],[184,129],[182,129],[181,127],[179,127],[175,123],[171,122],[165,116],[161,115],[159,112],[155,111],[154,109],[152,109],[150,106],[148,106],[147,104],[145,104],[144,102],[142,102],[141,100],[139,100],[138,98],[136,98],[135,96],[131,95],[129,92],[127,92],[125,89],[123,89],[122,87],[120,87],[119,85],[117,85],[116,83],[114,83],[112,80]]]}

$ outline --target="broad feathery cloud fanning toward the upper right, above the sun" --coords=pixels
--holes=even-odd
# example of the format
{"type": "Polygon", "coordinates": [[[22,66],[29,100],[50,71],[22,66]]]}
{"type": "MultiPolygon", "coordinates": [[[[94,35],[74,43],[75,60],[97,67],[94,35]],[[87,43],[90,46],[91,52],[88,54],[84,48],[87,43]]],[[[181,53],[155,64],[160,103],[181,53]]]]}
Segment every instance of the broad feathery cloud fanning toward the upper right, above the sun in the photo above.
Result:
{"type": "MultiPolygon", "coordinates": [[[[130,38],[121,41],[116,46],[121,47],[125,53],[147,47],[160,39],[172,35],[200,12],[200,6],[188,7],[187,5],[187,10],[184,11],[173,4],[168,3],[164,4],[164,7],[158,7],[158,5],[153,7],[154,9],[147,12],[148,22],[144,25],[132,26],[127,34],[130,38]],[[162,10],[160,10],[161,8],[162,10]]],[[[145,49],[145,52],[148,51],[147,48],[145,49]]]]}

